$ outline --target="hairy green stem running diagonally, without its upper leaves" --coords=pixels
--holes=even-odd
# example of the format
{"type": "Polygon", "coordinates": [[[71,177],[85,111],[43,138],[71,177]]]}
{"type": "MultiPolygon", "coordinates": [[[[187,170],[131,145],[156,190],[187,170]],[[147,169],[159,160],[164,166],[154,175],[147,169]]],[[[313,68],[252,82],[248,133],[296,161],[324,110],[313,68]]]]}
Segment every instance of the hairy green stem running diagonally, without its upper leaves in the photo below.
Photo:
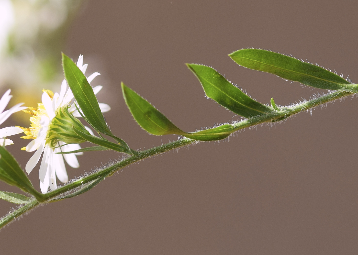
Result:
{"type": "MultiPolygon", "coordinates": [[[[245,119],[239,122],[235,122],[232,125],[233,130],[231,133],[244,129],[249,126],[254,126],[257,124],[261,124],[264,122],[275,122],[284,120],[287,117],[290,117],[292,115],[298,114],[299,112],[306,111],[309,109],[312,109],[316,106],[323,105],[327,102],[333,102],[334,100],[337,100],[339,98],[343,98],[349,95],[353,95],[353,92],[347,92],[347,91],[335,91],[328,93],[326,95],[313,98],[309,101],[302,102],[300,104],[292,105],[292,106],[286,106],[286,107],[277,107],[278,110],[273,111],[272,113],[265,114],[265,115],[258,115],[254,116],[250,119],[245,119]]],[[[136,155],[132,155],[121,162],[115,163],[111,165],[110,167],[107,167],[105,169],[102,169],[96,173],[89,174],[86,177],[83,177],[81,179],[78,179],[76,181],[73,181],[71,183],[68,183],[62,187],[59,187],[55,189],[54,191],[48,192],[43,195],[43,199],[45,199],[44,203],[48,202],[55,202],[59,201],[65,198],[74,197],[79,194],[82,194],[89,189],[95,187],[99,182],[103,181],[108,176],[113,175],[115,172],[117,172],[119,169],[124,168],[127,165],[130,165],[134,162],[140,161],[145,158],[152,157],[154,155],[158,155],[161,153],[164,153],[166,151],[180,148],[189,144],[199,143],[197,140],[189,139],[189,138],[183,138],[179,139],[177,141],[173,141],[167,144],[163,144],[160,146],[157,146],[152,149],[147,149],[144,151],[138,151],[136,155]],[[72,193],[71,193],[72,192],[72,193]]],[[[9,212],[8,215],[4,216],[0,219],[0,228],[5,226],[6,224],[13,221],[16,217],[19,217],[25,212],[28,212],[35,206],[39,205],[39,201],[32,201],[19,209],[15,210],[14,212],[9,212]]]]}

